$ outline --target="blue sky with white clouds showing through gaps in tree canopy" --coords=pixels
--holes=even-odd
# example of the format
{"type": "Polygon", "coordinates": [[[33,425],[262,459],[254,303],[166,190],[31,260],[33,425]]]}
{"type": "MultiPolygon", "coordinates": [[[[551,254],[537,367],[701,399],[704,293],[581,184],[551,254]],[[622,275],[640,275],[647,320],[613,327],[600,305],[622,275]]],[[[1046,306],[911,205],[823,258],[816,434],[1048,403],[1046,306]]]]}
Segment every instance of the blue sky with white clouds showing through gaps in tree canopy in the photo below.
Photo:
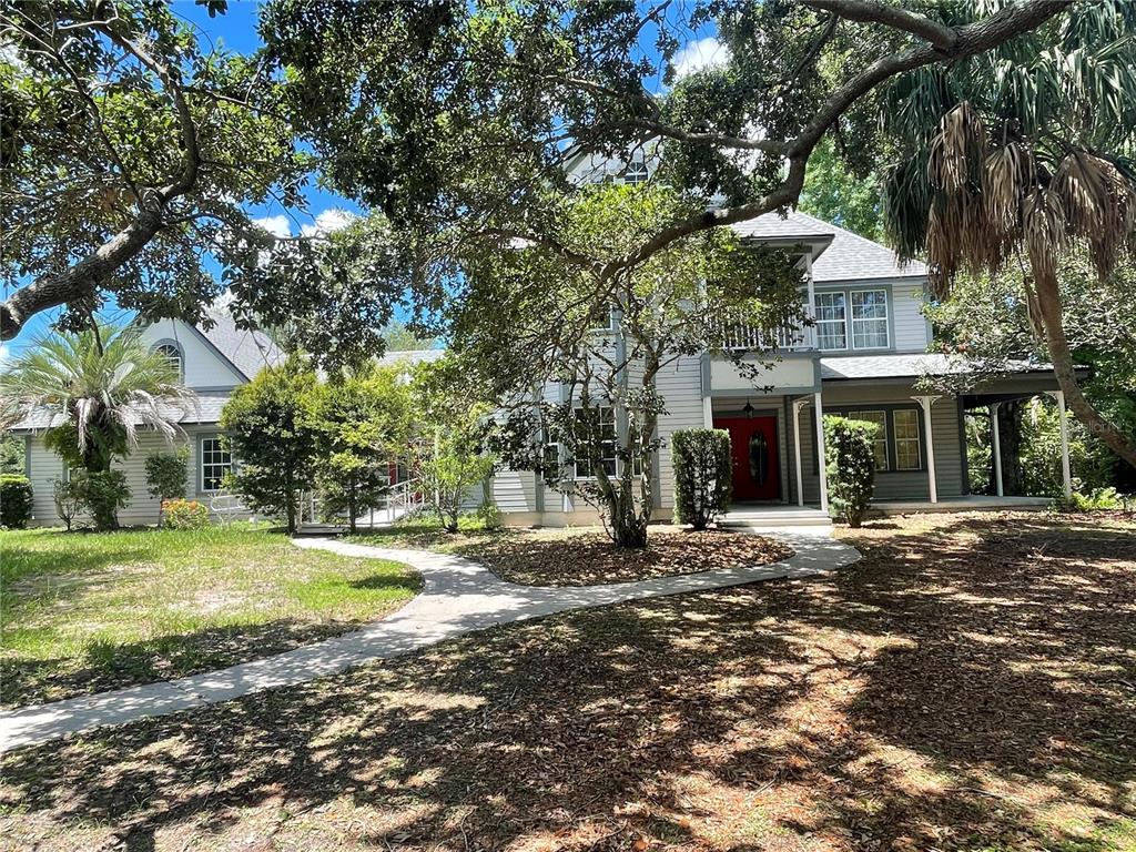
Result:
{"type": "MultiPolygon", "coordinates": [[[[210,18],[204,7],[198,6],[193,0],[175,0],[172,3],[174,14],[184,18],[198,31],[206,50],[214,45],[220,50],[242,53],[252,52],[260,47],[260,37],[257,34],[258,6],[259,3],[252,0],[229,0],[228,11],[225,15],[210,18]]],[[[649,53],[653,52],[653,45],[644,44],[643,47],[649,53]]],[[[709,25],[690,34],[690,42],[679,51],[674,61],[682,74],[720,61],[726,56],[728,53],[713,37],[713,26],[709,25]]],[[[655,85],[658,85],[657,81],[655,85]]],[[[307,187],[304,197],[307,210],[287,210],[274,202],[252,208],[250,212],[265,227],[282,236],[286,233],[299,234],[317,227],[331,229],[343,224],[351,215],[361,212],[361,209],[352,201],[327,192],[315,185],[314,182],[307,187]]],[[[114,304],[108,306],[103,312],[108,318],[115,320],[128,317],[125,311],[117,309],[114,304]]],[[[48,311],[36,316],[15,341],[7,345],[0,345],[0,364],[11,351],[27,345],[33,337],[47,331],[58,315],[59,311],[48,311]]]]}

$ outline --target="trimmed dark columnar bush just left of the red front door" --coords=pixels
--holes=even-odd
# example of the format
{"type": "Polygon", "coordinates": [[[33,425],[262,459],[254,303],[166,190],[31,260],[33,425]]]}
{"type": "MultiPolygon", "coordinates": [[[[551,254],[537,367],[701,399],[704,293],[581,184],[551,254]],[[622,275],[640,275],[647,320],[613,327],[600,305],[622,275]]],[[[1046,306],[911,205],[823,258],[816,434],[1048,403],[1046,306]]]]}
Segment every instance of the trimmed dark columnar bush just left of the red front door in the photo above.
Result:
{"type": "Polygon", "coordinates": [[[675,521],[705,529],[729,508],[734,466],[725,429],[679,429],[670,436],[675,521]]]}

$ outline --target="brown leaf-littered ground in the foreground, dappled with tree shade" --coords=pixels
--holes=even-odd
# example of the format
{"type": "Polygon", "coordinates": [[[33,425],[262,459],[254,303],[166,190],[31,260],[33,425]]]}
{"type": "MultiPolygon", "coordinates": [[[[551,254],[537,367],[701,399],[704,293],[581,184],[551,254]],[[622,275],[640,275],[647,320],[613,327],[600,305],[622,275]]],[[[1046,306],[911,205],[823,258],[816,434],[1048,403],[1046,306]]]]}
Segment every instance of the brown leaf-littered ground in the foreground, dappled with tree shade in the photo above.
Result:
{"type": "Polygon", "coordinates": [[[6,755],[11,849],[1126,852],[1136,524],[872,521],[833,576],[512,624],[6,755]]]}

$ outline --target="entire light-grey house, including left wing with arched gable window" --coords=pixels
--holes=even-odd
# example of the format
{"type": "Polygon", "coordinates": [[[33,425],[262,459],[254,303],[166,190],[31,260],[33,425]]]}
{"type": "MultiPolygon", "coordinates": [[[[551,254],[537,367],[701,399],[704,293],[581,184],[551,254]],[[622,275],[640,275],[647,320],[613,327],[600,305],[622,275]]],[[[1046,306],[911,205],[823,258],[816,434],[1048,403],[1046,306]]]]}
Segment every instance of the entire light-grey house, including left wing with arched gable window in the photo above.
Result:
{"type": "MultiPolygon", "coordinates": [[[[576,168],[586,173],[582,179],[595,179],[593,175],[599,174],[603,179],[635,183],[643,179],[649,162],[633,158],[632,166],[598,165],[594,158],[582,157],[576,168]]],[[[815,507],[820,515],[828,503],[819,463],[824,458],[820,418],[826,414],[880,426],[877,503],[926,507],[967,495],[964,411],[1051,394],[1059,400],[1064,423],[1063,399],[1045,365],[1021,364],[1012,374],[961,395],[919,389],[928,374],[961,368],[945,356],[927,353],[932,328],[921,312],[928,298],[927,270],[921,264],[900,265],[889,249],[801,212],[769,214],[734,227],[743,242],[792,251],[803,274],[804,310],[815,325],[783,329],[779,360],[762,368],[757,378],[743,376],[729,358],[709,351],[683,357],[663,370],[658,389],[667,412],[659,419],[662,449],[653,470],[658,517],[668,518],[673,511],[674,471],[667,438],[677,429],[729,432],[735,502],[815,507]]],[[[156,350],[177,359],[185,384],[199,395],[199,409],[184,417],[182,426],[190,445],[186,496],[206,501],[217,493],[233,463],[217,426],[225,401],[265,365],[282,359],[267,335],[237,329],[223,312],[214,315],[214,320],[208,329],[162,320],[143,333],[156,350]]],[[[738,334],[744,339],[747,332],[741,328],[738,334]]],[[[400,352],[389,358],[420,360],[438,353],[400,352]]],[[[553,394],[551,399],[557,390],[544,392],[553,394]]],[[[612,412],[612,429],[618,428],[618,419],[612,412]]],[[[40,433],[48,425],[33,418],[15,429],[27,442],[27,474],[39,523],[57,523],[51,484],[66,476],[60,459],[43,445],[40,433]]],[[[158,517],[157,501],[145,488],[144,458],[162,445],[157,435],[143,435],[139,450],[120,462],[134,493],[120,513],[124,524],[152,523],[158,517]]],[[[1001,482],[997,473],[995,478],[1001,482]]],[[[1069,492],[1068,445],[1064,483],[1069,492]]],[[[488,494],[511,525],[565,526],[596,519],[592,507],[549,487],[532,471],[500,470],[478,491],[470,495],[470,504],[482,493],[488,494]]]]}

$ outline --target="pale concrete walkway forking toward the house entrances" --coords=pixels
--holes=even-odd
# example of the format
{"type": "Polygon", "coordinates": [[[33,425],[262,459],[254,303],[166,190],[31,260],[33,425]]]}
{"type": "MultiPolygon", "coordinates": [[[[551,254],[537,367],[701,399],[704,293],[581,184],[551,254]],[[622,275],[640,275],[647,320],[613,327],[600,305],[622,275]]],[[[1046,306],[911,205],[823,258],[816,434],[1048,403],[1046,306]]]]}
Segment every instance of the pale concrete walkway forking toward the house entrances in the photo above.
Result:
{"type": "Polygon", "coordinates": [[[332,538],[298,538],[295,544],[300,548],[406,562],[423,575],[425,588],[401,610],[381,621],[275,657],[176,680],[2,711],[0,752],[302,684],[493,625],[620,601],[765,579],[808,577],[842,568],[860,558],[855,549],[832,537],[832,527],[762,529],[761,534],[786,542],[794,554],[782,562],[755,568],[565,588],[507,583],[483,566],[459,557],[371,548],[332,538]]]}

